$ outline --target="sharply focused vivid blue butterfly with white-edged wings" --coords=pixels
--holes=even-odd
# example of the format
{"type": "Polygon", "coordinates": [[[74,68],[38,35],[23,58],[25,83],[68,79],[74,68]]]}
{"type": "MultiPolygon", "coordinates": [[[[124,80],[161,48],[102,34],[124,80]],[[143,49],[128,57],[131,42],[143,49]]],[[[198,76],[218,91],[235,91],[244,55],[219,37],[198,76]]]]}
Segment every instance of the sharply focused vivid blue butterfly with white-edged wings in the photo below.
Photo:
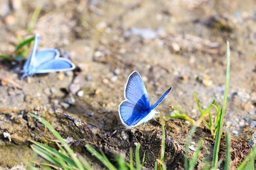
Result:
{"type": "Polygon", "coordinates": [[[133,71],[128,77],[126,87],[124,89],[125,100],[119,104],[119,117],[121,122],[127,128],[132,128],[152,119],[157,113],[154,110],[171,91],[170,87],[160,99],[153,105],[149,105],[148,93],[146,87],[137,71],[133,71]]]}

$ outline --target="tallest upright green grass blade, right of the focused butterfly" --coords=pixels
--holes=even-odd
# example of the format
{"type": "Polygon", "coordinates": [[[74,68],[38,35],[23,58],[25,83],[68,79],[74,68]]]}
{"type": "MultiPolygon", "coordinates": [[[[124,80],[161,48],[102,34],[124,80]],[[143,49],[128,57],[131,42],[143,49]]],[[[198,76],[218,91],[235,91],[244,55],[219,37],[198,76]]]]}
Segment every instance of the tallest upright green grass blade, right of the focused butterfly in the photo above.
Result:
{"type": "Polygon", "coordinates": [[[224,99],[220,111],[220,120],[218,122],[218,130],[216,132],[216,139],[214,143],[214,149],[213,149],[213,161],[212,166],[217,166],[218,164],[218,152],[220,150],[220,138],[222,135],[222,127],[223,127],[223,121],[224,121],[224,115],[225,115],[225,108],[227,103],[227,93],[229,89],[229,71],[230,71],[230,48],[229,48],[229,42],[227,41],[227,71],[226,71],[226,85],[225,85],[225,92],[224,92],[224,99]]]}

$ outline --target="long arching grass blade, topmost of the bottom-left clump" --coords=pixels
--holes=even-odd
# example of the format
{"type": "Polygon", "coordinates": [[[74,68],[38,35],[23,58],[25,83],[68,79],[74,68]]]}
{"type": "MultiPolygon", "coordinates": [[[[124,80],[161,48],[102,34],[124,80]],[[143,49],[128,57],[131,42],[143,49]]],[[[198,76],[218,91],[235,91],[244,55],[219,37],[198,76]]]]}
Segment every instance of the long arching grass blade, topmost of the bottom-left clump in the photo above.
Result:
{"type": "Polygon", "coordinates": [[[68,144],[64,141],[64,139],[61,137],[61,135],[58,134],[58,132],[51,126],[51,124],[49,124],[49,122],[47,122],[45,119],[38,117],[37,115],[34,114],[27,114],[31,117],[36,118],[38,121],[40,121],[43,125],[45,125],[47,127],[47,129],[52,132],[52,134],[61,142],[61,144],[63,145],[63,147],[65,148],[65,150],[67,150],[68,154],[70,155],[70,157],[74,160],[74,162],[76,163],[76,167],[78,167],[80,170],[83,170],[84,167],[81,164],[81,162],[79,161],[79,159],[76,157],[76,154],[74,153],[74,151],[68,146],[68,144]]]}

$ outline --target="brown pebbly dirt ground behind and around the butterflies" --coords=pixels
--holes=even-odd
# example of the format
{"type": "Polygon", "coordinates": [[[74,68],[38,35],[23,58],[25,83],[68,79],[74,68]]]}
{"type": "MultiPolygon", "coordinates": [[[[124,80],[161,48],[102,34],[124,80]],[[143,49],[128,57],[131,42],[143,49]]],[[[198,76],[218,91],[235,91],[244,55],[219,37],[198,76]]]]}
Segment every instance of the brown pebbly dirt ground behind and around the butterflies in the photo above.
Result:
{"type": "MultiPolygon", "coordinates": [[[[2,167],[19,165],[21,157],[27,160],[36,157],[27,139],[54,139],[51,135],[43,134],[51,137],[44,139],[32,135],[35,134],[35,127],[40,126],[31,126],[33,122],[25,113],[38,113],[38,110],[44,110],[40,114],[56,128],[57,122],[65,119],[54,113],[56,108],[61,108],[100,129],[97,134],[116,134],[117,140],[114,137],[112,142],[120,142],[121,132],[130,135],[130,143],[141,142],[139,134],[144,133],[143,125],[125,129],[118,115],[118,105],[124,100],[126,80],[134,70],[142,76],[153,103],[173,86],[162,105],[178,107],[197,120],[200,113],[194,91],[203,108],[211,104],[211,96],[216,99],[217,105],[222,104],[227,40],[231,46],[231,73],[224,130],[231,132],[234,140],[248,141],[256,129],[254,0],[1,0],[0,15],[0,54],[14,56],[13,51],[19,40],[30,38],[37,32],[41,36],[38,49],[57,48],[61,55],[68,54],[76,65],[74,71],[37,74],[29,80],[19,80],[24,61],[0,61],[0,152],[5,153],[2,158],[0,155],[2,167]],[[37,7],[41,7],[40,14],[32,33],[28,33],[31,16],[37,7]],[[88,113],[93,113],[92,116],[85,114],[67,93],[76,75],[81,76],[81,92],[76,99],[88,113]],[[12,141],[3,136],[6,128],[12,141]],[[17,153],[19,157],[14,159],[17,153]]],[[[31,48],[26,57],[30,52],[31,48]]],[[[169,108],[159,109],[164,115],[173,112],[169,108]]],[[[211,112],[214,119],[216,111],[212,109],[211,112]]],[[[72,123],[70,120],[67,122],[65,125],[72,123]]],[[[61,130],[63,127],[58,127],[63,137],[81,137],[72,136],[77,134],[69,132],[68,128],[61,130]]],[[[145,129],[155,134],[160,127],[152,120],[145,129]]],[[[166,133],[175,140],[180,136],[186,140],[190,127],[184,120],[166,119],[166,133]],[[172,128],[180,126],[186,128],[177,128],[181,129],[179,132],[172,128]]],[[[44,132],[43,127],[37,130],[44,132]]],[[[207,130],[204,130],[203,135],[207,135],[207,130]]],[[[209,132],[208,135],[211,138],[209,132]]],[[[146,147],[150,146],[150,139],[145,138],[141,153],[143,149],[150,149],[146,147]]],[[[198,141],[196,136],[194,140],[198,141]]],[[[184,147],[184,141],[180,142],[177,140],[176,143],[184,147]]],[[[155,145],[157,147],[157,140],[155,145]]],[[[94,147],[100,148],[97,145],[94,147]]],[[[127,145],[124,147],[119,149],[129,148],[127,145]]],[[[107,148],[105,146],[105,152],[114,158],[113,150],[117,148],[107,148]]],[[[204,148],[207,149],[207,144],[204,148]]],[[[176,155],[180,158],[182,154],[177,152],[176,155]]],[[[150,162],[155,162],[155,158],[147,158],[145,167],[152,168],[150,162]]],[[[173,162],[179,167],[176,169],[182,169],[181,159],[168,159],[170,169],[173,162]]]]}

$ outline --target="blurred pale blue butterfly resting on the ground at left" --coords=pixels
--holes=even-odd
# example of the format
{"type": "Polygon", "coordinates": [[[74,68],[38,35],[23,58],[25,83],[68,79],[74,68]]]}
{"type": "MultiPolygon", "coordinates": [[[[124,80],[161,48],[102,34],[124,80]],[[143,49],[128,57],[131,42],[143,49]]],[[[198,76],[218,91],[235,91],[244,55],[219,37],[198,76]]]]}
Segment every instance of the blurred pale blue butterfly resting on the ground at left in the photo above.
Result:
{"type": "Polygon", "coordinates": [[[57,49],[37,51],[39,39],[40,35],[36,33],[32,53],[23,66],[23,75],[20,79],[36,73],[68,71],[75,68],[75,65],[70,60],[59,58],[60,52],[57,49]]]}

